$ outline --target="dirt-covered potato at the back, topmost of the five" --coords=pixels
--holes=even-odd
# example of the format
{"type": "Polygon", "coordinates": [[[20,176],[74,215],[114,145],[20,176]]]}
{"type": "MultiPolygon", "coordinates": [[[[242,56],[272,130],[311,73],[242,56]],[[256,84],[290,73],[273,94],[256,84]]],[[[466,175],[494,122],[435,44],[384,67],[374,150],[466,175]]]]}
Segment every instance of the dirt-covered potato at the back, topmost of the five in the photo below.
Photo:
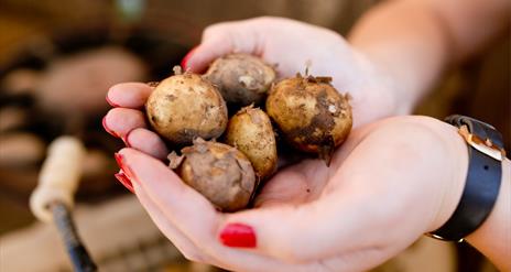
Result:
{"type": "Polygon", "coordinates": [[[275,70],[261,58],[248,54],[230,54],[217,58],[204,76],[218,86],[229,105],[248,106],[262,102],[275,70]]]}

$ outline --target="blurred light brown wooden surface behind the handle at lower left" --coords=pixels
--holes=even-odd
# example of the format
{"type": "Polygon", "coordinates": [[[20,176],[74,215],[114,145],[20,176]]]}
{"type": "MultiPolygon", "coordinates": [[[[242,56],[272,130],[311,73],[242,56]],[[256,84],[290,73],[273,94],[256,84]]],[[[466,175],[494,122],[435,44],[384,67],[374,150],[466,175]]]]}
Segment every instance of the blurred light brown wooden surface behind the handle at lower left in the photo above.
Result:
{"type": "MultiPolygon", "coordinates": [[[[97,206],[78,206],[75,220],[101,271],[120,271],[126,266],[137,271],[148,264],[182,259],[133,196],[97,206]]],[[[53,225],[41,222],[0,237],[0,271],[69,271],[70,263],[59,239],[53,225]]]]}

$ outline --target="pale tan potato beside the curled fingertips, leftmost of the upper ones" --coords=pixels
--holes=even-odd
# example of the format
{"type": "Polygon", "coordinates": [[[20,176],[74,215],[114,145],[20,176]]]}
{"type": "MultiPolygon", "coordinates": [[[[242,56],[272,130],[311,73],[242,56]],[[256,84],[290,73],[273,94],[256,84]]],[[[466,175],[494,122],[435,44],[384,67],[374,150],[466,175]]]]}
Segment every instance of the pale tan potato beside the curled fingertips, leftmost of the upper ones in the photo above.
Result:
{"type": "Polygon", "coordinates": [[[178,69],[154,88],[145,104],[152,128],[174,144],[219,137],[228,121],[221,95],[199,75],[178,69]]]}

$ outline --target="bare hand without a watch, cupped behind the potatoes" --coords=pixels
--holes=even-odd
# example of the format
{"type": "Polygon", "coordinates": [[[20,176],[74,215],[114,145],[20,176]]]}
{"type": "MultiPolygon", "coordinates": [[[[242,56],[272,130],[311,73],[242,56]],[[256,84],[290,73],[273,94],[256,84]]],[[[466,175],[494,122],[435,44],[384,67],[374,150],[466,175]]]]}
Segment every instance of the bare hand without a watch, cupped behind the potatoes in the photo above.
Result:
{"type": "Polygon", "coordinates": [[[210,25],[202,43],[183,59],[185,69],[204,73],[217,57],[240,52],[276,65],[280,78],[304,73],[331,76],[340,93],[352,97],[355,127],[394,115],[412,105],[401,86],[368,56],[334,31],[281,18],[257,18],[210,25]]]}

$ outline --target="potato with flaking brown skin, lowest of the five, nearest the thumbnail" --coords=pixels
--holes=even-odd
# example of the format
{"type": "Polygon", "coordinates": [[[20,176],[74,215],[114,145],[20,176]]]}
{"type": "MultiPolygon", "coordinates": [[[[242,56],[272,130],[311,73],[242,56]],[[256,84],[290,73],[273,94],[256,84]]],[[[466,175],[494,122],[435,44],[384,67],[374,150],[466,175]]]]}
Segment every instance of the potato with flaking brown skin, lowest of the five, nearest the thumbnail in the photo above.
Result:
{"type": "Polygon", "coordinates": [[[194,141],[182,156],[168,155],[170,167],[222,211],[244,208],[256,191],[250,161],[236,148],[219,142],[194,141]]]}

